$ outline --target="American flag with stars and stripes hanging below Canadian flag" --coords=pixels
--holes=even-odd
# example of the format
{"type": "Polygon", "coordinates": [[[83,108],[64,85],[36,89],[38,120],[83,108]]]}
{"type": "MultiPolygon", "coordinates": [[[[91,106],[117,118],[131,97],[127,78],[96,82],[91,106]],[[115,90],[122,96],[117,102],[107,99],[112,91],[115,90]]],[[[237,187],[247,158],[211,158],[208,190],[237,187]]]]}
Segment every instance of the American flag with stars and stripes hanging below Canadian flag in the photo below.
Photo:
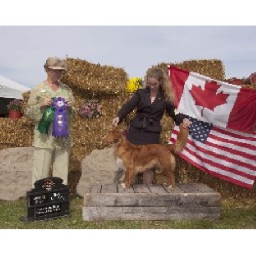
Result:
{"type": "MultiPolygon", "coordinates": [[[[251,189],[256,179],[256,135],[189,119],[189,139],[181,158],[220,179],[251,189]]],[[[177,133],[179,126],[172,131],[170,143],[176,141],[177,133]]]]}

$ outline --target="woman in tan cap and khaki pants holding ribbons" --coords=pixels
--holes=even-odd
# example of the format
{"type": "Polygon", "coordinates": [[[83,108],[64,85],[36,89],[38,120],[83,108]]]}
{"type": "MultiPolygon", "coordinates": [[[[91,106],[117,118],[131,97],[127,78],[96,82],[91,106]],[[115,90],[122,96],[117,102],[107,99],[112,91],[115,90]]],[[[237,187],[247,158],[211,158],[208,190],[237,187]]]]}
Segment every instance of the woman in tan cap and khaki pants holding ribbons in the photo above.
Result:
{"type": "Polygon", "coordinates": [[[26,108],[26,115],[35,123],[32,185],[48,177],[51,166],[52,176],[67,185],[74,97],[68,85],[60,82],[67,71],[65,60],[49,57],[44,69],[46,80],[31,91],[26,108]]]}

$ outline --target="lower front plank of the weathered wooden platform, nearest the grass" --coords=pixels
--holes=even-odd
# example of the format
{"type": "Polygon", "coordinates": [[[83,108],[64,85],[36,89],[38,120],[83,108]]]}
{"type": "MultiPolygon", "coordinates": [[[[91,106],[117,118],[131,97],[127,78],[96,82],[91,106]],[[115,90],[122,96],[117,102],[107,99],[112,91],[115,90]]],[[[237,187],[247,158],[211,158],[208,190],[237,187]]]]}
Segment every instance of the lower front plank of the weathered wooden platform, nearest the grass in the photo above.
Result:
{"type": "Polygon", "coordinates": [[[82,217],[85,221],[216,219],[220,207],[84,207],[82,217]]]}

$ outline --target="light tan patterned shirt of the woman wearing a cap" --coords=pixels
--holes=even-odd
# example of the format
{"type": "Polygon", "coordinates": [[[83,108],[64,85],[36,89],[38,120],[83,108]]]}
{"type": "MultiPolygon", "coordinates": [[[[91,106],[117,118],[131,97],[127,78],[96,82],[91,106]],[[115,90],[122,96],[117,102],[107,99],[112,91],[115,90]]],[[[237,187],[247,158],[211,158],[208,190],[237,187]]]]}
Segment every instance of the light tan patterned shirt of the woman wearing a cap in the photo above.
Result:
{"type": "Polygon", "coordinates": [[[30,93],[30,98],[28,100],[26,115],[35,122],[34,129],[34,140],[33,146],[38,148],[69,148],[72,146],[72,137],[71,137],[71,119],[75,115],[74,107],[74,97],[71,89],[68,85],[61,83],[60,88],[55,92],[48,85],[42,83],[36,85],[35,88],[30,93]],[[67,110],[67,120],[68,120],[68,130],[69,135],[67,137],[53,137],[51,123],[49,127],[48,134],[42,134],[37,130],[38,123],[43,116],[44,108],[40,108],[40,103],[44,98],[53,98],[53,97],[63,97],[66,100],[72,102],[72,109],[67,110]]]}

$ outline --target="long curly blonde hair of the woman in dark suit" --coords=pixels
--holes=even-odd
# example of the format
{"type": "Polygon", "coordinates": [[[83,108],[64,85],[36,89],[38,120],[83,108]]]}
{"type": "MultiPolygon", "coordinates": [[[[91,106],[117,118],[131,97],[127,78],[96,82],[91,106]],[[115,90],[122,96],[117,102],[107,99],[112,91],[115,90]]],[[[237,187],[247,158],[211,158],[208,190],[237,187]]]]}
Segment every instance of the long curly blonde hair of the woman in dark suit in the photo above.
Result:
{"type": "Polygon", "coordinates": [[[144,78],[143,88],[148,87],[148,79],[150,77],[154,77],[160,82],[160,90],[166,97],[166,100],[169,102],[175,102],[174,90],[172,88],[172,84],[167,75],[167,72],[164,71],[164,69],[159,67],[152,67],[148,69],[144,78]]]}

